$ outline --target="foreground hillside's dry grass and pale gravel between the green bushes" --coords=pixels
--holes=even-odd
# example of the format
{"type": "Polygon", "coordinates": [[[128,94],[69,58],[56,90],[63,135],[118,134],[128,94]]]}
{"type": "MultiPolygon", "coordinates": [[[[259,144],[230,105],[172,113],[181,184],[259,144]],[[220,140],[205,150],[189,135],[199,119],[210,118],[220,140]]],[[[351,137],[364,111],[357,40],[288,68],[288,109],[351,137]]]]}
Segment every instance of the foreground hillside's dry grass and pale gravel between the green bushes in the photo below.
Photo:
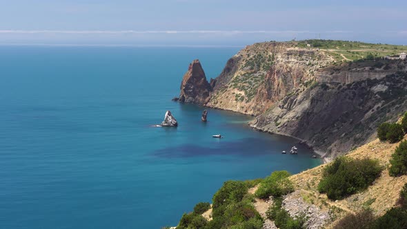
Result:
{"type": "MultiPolygon", "coordinates": [[[[407,140],[407,136],[404,136],[404,140],[407,140]]],[[[391,155],[395,152],[397,146],[399,146],[399,143],[392,144],[375,139],[364,146],[350,151],[345,156],[347,159],[377,160],[379,162],[378,165],[383,170],[379,174],[379,177],[377,177],[377,179],[375,179],[375,181],[371,183],[368,188],[356,192],[353,195],[349,195],[344,199],[334,201],[328,199],[326,194],[321,194],[318,191],[318,184],[323,177],[324,168],[329,166],[330,163],[326,163],[316,168],[312,168],[310,170],[300,172],[297,175],[288,177],[293,184],[293,189],[290,194],[284,195],[283,197],[270,196],[268,199],[256,198],[255,193],[260,186],[258,183],[264,181],[265,179],[245,181],[244,183],[246,183],[248,186],[248,189],[245,191],[247,194],[245,195],[244,193],[240,192],[237,193],[240,193],[241,197],[243,197],[243,201],[245,201],[245,199],[250,200],[250,203],[246,202],[246,204],[248,204],[248,206],[252,206],[252,208],[259,212],[259,215],[263,219],[263,228],[277,228],[275,226],[275,222],[268,219],[268,217],[270,217],[270,213],[268,211],[272,209],[273,204],[275,201],[278,201],[279,198],[282,201],[281,208],[288,212],[291,217],[295,218],[305,216],[305,224],[300,228],[333,228],[336,223],[346,217],[346,215],[361,212],[366,208],[372,210],[375,217],[380,217],[390,210],[390,208],[398,206],[397,201],[399,200],[400,191],[407,183],[407,175],[390,177],[388,172],[391,155]]],[[[277,188],[275,186],[273,187],[277,188]]],[[[234,189],[230,190],[230,192],[232,193],[233,190],[239,190],[239,188],[235,187],[234,189]]],[[[219,195],[220,192],[221,191],[219,190],[217,195],[219,195]]],[[[223,195],[223,198],[228,197],[226,193],[223,193],[223,195]]],[[[230,195],[230,197],[234,197],[233,195],[236,195],[236,193],[230,195]]],[[[202,214],[207,223],[214,220],[212,218],[214,209],[212,208],[213,206],[202,214]]],[[[191,216],[193,216],[193,214],[191,216]]],[[[195,217],[197,216],[195,215],[195,217]]],[[[217,220],[219,221],[219,215],[217,217],[217,220]]],[[[230,216],[223,216],[225,220],[227,220],[228,217],[230,216]]],[[[249,223],[249,221],[246,221],[246,223],[249,223]]],[[[203,225],[206,226],[202,226],[202,228],[213,228],[212,226],[217,224],[203,223],[203,225]]],[[[228,227],[226,226],[222,228],[228,227]]],[[[252,226],[251,228],[260,227],[252,226]]]]}

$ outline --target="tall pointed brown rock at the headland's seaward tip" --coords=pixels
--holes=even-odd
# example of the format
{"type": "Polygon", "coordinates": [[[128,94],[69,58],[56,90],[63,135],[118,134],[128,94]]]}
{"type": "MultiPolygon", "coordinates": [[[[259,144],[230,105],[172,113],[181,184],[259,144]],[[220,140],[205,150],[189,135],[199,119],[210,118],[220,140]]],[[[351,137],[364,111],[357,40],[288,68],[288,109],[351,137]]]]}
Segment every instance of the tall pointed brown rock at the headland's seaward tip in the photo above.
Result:
{"type": "Polygon", "coordinates": [[[201,63],[197,59],[192,61],[183,75],[179,101],[203,105],[209,101],[211,91],[212,87],[206,80],[201,63]]]}

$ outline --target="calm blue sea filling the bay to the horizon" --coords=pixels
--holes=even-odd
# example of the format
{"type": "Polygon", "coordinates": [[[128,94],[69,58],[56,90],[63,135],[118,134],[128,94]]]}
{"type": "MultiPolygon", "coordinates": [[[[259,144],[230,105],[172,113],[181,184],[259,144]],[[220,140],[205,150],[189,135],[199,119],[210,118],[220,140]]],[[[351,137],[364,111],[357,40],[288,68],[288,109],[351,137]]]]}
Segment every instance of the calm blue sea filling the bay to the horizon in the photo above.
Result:
{"type": "Polygon", "coordinates": [[[176,226],[226,180],[319,165],[252,117],[171,101],[193,59],[215,78],[238,50],[0,47],[0,228],[176,226]],[[178,128],[154,127],[166,110],[178,128]]]}

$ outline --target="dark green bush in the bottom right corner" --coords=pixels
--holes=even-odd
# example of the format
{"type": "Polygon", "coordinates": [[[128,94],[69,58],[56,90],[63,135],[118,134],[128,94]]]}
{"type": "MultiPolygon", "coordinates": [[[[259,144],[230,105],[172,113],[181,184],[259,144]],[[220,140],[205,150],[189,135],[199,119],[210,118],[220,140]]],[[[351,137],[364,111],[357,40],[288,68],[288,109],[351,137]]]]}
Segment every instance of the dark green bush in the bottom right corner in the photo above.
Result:
{"type": "Polygon", "coordinates": [[[400,229],[407,228],[407,210],[391,208],[375,221],[373,228],[400,229]]]}

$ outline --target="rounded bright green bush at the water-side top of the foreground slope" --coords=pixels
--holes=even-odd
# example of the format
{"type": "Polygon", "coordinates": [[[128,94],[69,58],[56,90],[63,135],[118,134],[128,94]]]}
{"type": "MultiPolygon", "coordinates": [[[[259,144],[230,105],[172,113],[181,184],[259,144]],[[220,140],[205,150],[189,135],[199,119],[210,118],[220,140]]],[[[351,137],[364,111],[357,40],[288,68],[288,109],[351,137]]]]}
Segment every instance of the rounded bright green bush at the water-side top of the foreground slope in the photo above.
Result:
{"type": "Polygon", "coordinates": [[[269,177],[261,181],[255,196],[266,199],[270,196],[280,197],[294,191],[294,186],[290,179],[290,173],[287,171],[275,171],[269,177]]]}

